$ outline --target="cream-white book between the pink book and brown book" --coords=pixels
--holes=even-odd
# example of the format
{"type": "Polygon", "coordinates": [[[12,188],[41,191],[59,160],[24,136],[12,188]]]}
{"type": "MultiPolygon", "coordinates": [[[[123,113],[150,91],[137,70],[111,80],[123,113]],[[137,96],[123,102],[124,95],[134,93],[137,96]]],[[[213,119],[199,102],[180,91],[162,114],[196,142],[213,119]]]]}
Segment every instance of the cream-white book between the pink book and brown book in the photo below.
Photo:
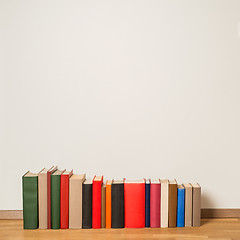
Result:
{"type": "Polygon", "coordinates": [[[169,194],[169,181],[161,181],[161,228],[168,227],[168,194],[169,194]]]}

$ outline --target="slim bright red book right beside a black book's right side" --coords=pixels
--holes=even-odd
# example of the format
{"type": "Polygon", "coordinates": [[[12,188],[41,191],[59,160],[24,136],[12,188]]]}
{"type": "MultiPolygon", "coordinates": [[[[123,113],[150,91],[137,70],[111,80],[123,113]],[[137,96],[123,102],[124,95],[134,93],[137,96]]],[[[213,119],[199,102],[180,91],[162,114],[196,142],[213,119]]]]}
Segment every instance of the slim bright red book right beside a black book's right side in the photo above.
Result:
{"type": "Polygon", "coordinates": [[[92,183],[92,228],[101,228],[103,176],[95,176],[92,183]]]}

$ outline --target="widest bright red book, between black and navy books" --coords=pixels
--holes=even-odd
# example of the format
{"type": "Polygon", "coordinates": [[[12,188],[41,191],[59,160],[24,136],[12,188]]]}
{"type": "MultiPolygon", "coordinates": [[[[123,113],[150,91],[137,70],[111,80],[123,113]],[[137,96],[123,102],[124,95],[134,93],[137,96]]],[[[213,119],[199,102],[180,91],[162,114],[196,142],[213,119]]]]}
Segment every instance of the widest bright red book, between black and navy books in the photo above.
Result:
{"type": "Polygon", "coordinates": [[[124,182],[125,227],[145,227],[145,182],[124,182]]]}

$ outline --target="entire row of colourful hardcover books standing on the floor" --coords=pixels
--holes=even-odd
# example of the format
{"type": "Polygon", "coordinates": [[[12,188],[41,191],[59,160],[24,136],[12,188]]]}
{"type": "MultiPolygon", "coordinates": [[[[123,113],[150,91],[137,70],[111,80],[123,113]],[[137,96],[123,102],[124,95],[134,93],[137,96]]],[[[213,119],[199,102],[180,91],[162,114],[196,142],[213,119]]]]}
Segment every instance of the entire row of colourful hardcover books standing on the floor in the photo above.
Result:
{"type": "Polygon", "coordinates": [[[201,187],[176,180],[108,180],[53,166],[22,177],[25,229],[200,226],[201,187]]]}

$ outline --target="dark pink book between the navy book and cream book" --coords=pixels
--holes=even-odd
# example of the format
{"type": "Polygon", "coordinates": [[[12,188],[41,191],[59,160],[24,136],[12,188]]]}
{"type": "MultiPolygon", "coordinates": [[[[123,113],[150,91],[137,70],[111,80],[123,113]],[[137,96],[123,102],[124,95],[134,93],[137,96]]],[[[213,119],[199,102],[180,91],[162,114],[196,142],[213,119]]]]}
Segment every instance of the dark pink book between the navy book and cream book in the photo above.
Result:
{"type": "Polygon", "coordinates": [[[161,183],[160,180],[151,180],[150,187],[150,227],[160,227],[161,183]]]}

